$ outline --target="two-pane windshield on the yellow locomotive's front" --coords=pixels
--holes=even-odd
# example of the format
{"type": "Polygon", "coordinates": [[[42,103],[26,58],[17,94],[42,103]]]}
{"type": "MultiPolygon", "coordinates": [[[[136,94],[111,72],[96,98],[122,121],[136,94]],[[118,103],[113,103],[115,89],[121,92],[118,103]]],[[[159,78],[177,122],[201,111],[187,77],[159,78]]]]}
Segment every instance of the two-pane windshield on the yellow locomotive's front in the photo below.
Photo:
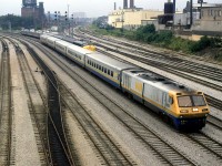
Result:
{"type": "Polygon", "coordinates": [[[179,96],[178,103],[179,103],[180,107],[205,106],[206,105],[202,95],[179,96]]]}

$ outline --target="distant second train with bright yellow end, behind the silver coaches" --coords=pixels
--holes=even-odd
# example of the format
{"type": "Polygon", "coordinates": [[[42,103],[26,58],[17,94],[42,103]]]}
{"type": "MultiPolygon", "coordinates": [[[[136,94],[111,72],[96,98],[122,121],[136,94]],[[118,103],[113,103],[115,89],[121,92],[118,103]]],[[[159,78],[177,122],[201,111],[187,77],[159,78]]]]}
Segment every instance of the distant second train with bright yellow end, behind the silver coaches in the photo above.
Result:
{"type": "MultiPolygon", "coordinates": [[[[22,35],[27,35],[27,37],[32,37],[32,38],[40,39],[40,35],[43,35],[44,33],[42,31],[28,31],[28,30],[26,30],[26,31],[21,31],[21,34],[22,35]]],[[[57,34],[57,33],[47,33],[47,34],[51,35],[51,37],[54,37],[54,38],[58,38],[60,40],[70,42],[72,44],[74,44],[74,45],[82,46],[84,49],[95,51],[95,46],[93,46],[92,44],[89,44],[88,42],[85,42],[83,40],[77,40],[77,39],[73,39],[71,37],[64,37],[64,35],[60,35],[60,34],[57,34]]]]}

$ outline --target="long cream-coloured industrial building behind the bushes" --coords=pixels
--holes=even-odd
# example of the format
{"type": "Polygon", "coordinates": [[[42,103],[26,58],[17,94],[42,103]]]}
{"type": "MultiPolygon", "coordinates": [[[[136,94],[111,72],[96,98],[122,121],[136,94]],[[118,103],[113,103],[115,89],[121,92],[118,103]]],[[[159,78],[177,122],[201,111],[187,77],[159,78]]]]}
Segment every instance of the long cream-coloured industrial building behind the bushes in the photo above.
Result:
{"type": "Polygon", "coordinates": [[[108,15],[108,24],[119,29],[133,30],[141,25],[155,23],[158,15],[162,13],[162,11],[141,8],[114,10],[108,15]]]}

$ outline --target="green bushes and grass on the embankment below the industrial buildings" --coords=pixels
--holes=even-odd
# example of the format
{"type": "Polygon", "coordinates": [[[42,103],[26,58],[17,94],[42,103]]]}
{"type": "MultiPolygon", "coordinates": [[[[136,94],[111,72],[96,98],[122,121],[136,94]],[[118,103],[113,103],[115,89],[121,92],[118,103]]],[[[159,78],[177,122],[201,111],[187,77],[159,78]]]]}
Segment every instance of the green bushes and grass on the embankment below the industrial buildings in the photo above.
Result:
{"type": "Polygon", "coordinates": [[[130,40],[167,48],[173,51],[182,51],[184,53],[194,53],[202,55],[202,52],[204,52],[204,50],[216,49],[218,51],[216,53],[214,53],[213,59],[222,61],[222,50],[220,49],[222,46],[221,37],[202,37],[200,41],[190,41],[174,37],[171,31],[157,32],[153,24],[140,27],[135,31],[122,31],[121,29],[113,28],[99,29],[97,25],[98,24],[93,24],[91,27],[91,30],[99,34],[123,37],[130,40]]]}

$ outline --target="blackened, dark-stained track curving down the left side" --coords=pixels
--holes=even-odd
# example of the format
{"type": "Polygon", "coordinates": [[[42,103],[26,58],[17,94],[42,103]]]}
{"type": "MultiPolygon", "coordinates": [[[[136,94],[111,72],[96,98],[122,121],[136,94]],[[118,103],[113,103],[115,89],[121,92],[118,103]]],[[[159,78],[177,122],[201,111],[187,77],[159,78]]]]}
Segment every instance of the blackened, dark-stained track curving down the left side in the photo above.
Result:
{"type": "Polygon", "coordinates": [[[28,51],[33,59],[39,63],[48,79],[48,143],[49,155],[51,156],[52,165],[74,165],[70,147],[67,142],[67,135],[62,123],[60,94],[58,90],[58,82],[53,71],[38,56],[38,54],[27,44],[28,51]]]}

